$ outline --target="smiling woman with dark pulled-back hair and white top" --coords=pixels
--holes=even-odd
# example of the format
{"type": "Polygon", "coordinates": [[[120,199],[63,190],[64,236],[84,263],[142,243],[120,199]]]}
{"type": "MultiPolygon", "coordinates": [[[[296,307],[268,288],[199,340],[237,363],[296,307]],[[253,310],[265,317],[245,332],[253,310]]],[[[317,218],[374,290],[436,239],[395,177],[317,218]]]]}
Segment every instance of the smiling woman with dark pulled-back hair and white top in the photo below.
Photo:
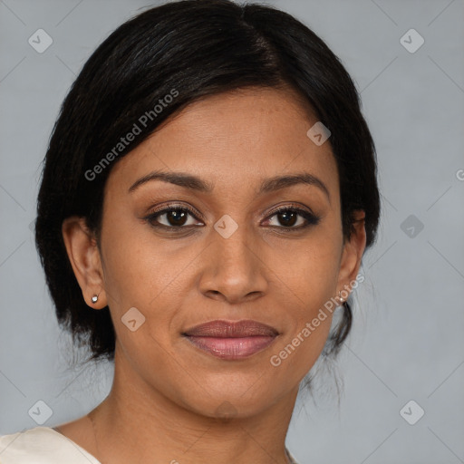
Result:
{"type": "Polygon", "coordinates": [[[63,102],[37,213],[58,319],[114,380],[82,418],[1,437],[3,464],[296,462],[300,382],[350,332],[380,214],[320,38],[228,0],[122,24],[63,102]]]}

